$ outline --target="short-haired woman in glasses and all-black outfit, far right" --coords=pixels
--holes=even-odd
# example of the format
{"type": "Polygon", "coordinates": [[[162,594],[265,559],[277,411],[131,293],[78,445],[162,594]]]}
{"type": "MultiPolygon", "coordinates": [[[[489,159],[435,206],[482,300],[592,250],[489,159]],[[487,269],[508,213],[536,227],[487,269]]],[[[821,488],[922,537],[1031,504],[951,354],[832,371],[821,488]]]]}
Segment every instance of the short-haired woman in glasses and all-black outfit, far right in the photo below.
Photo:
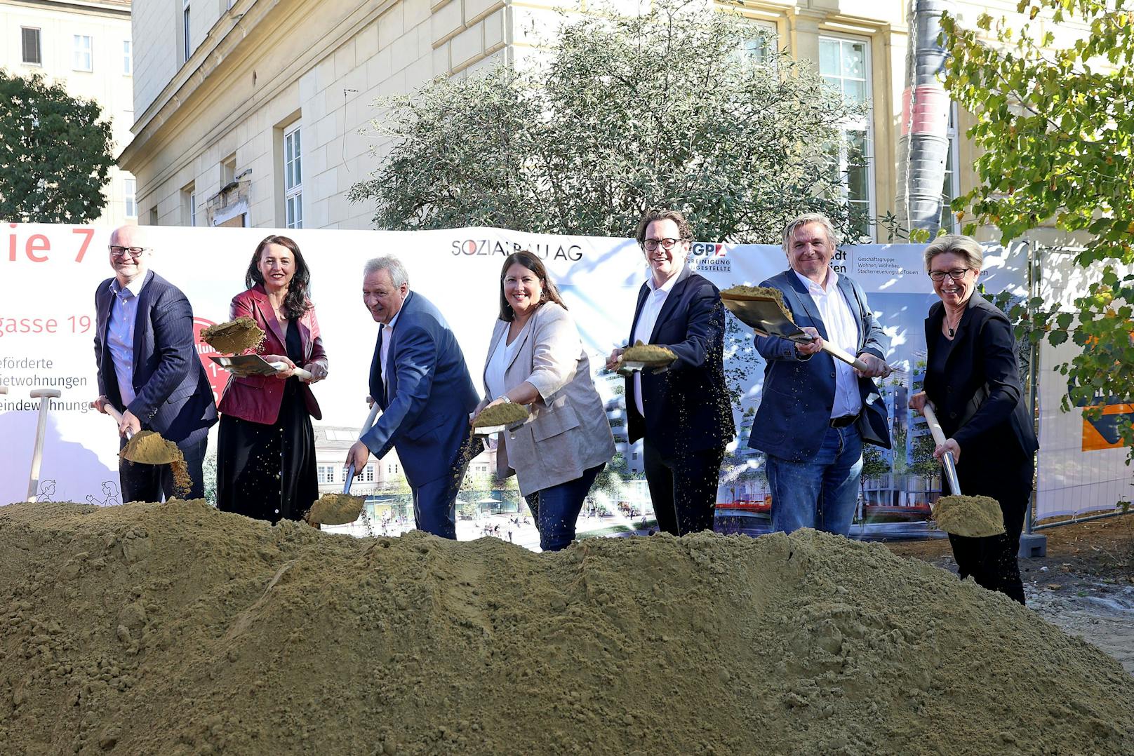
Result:
{"type": "Polygon", "coordinates": [[[930,401],[946,435],[933,456],[951,451],[960,492],[991,496],[1004,512],[1001,535],[949,534],[960,578],[972,576],[1024,603],[1016,555],[1040,444],[1023,401],[1012,324],[976,292],[983,250],[974,239],[938,237],[924,257],[941,301],[925,318],[925,390],[911,397],[909,407],[921,411],[930,401]]]}

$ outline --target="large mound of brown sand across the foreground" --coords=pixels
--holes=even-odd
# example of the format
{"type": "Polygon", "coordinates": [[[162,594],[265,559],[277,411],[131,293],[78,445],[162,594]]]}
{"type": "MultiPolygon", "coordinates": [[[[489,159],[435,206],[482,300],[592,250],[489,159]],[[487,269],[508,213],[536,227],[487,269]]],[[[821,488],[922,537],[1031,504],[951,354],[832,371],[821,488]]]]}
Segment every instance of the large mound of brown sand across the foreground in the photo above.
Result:
{"type": "Polygon", "coordinates": [[[18,754],[1131,754],[1134,678],[1006,597],[790,536],[356,541],[0,508],[18,754]]]}

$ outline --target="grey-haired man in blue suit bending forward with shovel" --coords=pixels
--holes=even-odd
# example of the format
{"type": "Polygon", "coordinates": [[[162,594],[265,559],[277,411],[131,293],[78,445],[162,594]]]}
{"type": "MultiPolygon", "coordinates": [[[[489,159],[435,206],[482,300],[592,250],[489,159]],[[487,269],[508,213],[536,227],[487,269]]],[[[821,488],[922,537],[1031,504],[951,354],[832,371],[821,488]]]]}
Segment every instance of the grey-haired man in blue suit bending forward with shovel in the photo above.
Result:
{"type": "Polygon", "coordinates": [[[361,475],[371,453],[381,459],[397,449],[417,529],[456,538],[457,491],[473,457],[468,414],[479,401],[465,356],[437,307],[409,290],[397,257],[371,260],[363,277],[363,301],[382,324],[370,366],[370,396],[382,415],[346,464],[361,475]]]}

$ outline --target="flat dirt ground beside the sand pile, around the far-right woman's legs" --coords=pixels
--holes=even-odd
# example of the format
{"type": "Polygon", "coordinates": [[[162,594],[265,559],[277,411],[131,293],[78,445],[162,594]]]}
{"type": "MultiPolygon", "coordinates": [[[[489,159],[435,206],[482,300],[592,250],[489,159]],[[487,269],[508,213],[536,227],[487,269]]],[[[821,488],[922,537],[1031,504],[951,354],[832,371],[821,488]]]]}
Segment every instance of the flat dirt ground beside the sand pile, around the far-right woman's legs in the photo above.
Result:
{"type": "MultiPolygon", "coordinates": [[[[1134,515],[1040,533],[1048,536],[1047,557],[1019,560],[1027,605],[1134,673],[1134,515]]],[[[886,545],[956,571],[946,540],[886,545]]]]}

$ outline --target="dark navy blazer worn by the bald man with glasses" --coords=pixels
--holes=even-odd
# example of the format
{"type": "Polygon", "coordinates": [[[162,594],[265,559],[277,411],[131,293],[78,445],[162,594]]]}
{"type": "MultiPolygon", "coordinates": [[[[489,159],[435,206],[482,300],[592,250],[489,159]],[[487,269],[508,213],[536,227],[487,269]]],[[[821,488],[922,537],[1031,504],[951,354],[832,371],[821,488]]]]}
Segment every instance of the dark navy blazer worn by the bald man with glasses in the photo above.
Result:
{"type": "Polygon", "coordinates": [[[118,376],[107,346],[115,295],[107,279],[94,292],[94,362],[99,393],[119,410],[128,409],[143,430],[176,443],[195,443],[217,422],[212,387],[197,356],[193,308],[181,290],[153,271],[145,274],[134,322],[134,401],[122,407],[118,376]]]}

